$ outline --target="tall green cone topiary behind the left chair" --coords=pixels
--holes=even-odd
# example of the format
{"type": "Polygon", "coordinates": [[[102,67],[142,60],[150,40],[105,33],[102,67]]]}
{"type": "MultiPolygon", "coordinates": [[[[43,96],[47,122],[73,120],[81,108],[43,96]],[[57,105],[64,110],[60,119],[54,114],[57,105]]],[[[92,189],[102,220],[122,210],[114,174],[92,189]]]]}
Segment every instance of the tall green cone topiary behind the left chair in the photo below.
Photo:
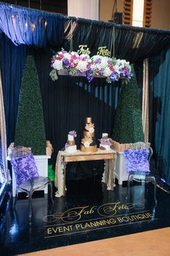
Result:
{"type": "Polygon", "coordinates": [[[24,67],[14,145],[29,147],[34,155],[46,154],[40,82],[32,56],[27,56],[24,67]]]}

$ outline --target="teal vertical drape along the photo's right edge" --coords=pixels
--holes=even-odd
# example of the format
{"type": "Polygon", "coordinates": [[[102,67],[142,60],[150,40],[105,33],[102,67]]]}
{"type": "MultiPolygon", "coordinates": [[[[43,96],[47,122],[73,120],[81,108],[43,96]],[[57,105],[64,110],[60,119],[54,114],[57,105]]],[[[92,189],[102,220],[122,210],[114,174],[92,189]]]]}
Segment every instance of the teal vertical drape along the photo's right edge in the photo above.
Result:
{"type": "Polygon", "coordinates": [[[155,146],[157,168],[170,184],[170,49],[149,61],[151,79],[150,141],[155,146]],[[153,97],[151,97],[153,95],[153,97]]]}

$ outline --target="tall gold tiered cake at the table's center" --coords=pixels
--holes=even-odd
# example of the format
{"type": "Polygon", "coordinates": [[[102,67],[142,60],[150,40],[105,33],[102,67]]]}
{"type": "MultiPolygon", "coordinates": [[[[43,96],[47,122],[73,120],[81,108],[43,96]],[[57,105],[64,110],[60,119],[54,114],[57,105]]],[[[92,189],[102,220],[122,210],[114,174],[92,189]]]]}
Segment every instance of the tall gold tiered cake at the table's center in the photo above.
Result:
{"type": "Polygon", "coordinates": [[[86,117],[86,126],[84,127],[83,139],[81,140],[81,151],[94,152],[97,151],[97,145],[94,138],[94,124],[91,117],[86,117]]]}

